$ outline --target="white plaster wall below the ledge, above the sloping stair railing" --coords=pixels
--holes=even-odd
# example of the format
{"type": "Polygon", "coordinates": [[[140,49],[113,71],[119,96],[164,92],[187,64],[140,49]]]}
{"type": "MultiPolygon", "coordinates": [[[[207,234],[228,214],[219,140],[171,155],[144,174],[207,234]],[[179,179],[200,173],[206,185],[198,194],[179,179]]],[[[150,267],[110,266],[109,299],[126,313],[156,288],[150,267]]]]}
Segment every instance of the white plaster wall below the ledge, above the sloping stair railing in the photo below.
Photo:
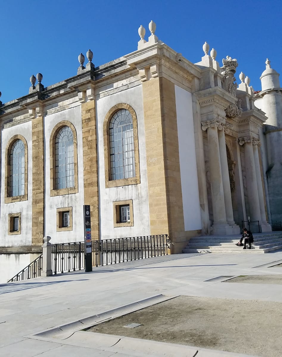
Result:
{"type": "Polygon", "coordinates": [[[39,254],[0,254],[0,283],[6,283],[35,260],[39,254]]]}

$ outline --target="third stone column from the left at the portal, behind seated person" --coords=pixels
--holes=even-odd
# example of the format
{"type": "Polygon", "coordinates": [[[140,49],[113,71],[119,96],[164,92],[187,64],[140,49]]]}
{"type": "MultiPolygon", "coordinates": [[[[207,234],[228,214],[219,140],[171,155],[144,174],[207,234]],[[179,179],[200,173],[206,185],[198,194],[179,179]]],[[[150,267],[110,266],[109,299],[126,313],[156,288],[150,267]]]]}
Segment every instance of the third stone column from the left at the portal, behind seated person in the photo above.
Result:
{"type": "Polygon", "coordinates": [[[252,138],[241,138],[239,139],[239,144],[244,145],[250,219],[251,221],[261,221],[261,210],[259,208],[257,174],[254,162],[252,138]]]}

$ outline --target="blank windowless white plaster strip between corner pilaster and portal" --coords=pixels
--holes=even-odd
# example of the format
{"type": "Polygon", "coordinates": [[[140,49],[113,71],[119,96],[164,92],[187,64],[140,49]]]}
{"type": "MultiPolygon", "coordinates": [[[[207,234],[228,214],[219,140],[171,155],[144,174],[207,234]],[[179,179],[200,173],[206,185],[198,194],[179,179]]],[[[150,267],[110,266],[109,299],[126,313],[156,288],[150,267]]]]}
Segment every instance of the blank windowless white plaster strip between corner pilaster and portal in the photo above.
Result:
{"type": "Polygon", "coordinates": [[[175,85],[180,176],[185,231],[202,229],[192,94],[175,85]]]}

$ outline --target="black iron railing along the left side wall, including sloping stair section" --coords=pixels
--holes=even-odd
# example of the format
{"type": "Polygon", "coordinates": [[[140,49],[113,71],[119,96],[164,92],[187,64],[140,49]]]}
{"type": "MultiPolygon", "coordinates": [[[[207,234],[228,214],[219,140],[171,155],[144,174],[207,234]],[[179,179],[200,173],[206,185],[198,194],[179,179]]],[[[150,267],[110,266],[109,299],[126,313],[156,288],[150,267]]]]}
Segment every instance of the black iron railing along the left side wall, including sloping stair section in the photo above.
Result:
{"type": "MultiPolygon", "coordinates": [[[[169,237],[166,234],[92,241],[92,265],[110,265],[168,254],[169,237]]],[[[51,245],[53,274],[84,268],[84,242],[51,245]]],[[[9,282],[41,276],[42,254],[21,270],[9,282]]]]}

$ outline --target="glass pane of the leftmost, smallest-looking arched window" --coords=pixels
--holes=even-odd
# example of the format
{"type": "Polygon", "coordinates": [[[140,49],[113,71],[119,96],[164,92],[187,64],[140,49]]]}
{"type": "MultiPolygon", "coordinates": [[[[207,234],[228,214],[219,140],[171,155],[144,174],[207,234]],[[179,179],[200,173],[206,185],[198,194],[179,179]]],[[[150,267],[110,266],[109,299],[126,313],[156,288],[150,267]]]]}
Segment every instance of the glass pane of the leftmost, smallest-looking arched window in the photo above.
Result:
{"type": "Polygon", "coordinates": [[[16,140],[10,150],[10,197],[24,195],[24,143],[16,140]]]}

